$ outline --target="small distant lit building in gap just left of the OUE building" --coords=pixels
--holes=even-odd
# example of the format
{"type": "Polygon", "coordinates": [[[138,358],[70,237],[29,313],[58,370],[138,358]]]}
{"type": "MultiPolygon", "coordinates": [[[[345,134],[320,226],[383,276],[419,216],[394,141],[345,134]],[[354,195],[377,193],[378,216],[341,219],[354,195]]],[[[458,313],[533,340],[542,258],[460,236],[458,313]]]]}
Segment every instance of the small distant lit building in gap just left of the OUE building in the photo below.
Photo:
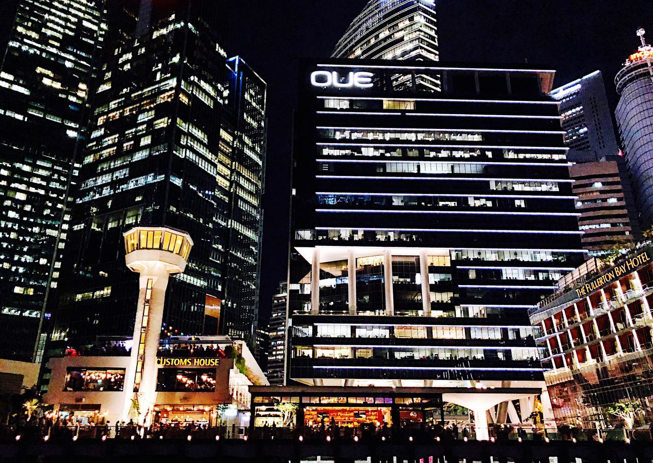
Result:
{"type": "Polygon", "coordinates": [[[272,296],[270,347],[268,349],[268,381],[273,386],[283,386],[285,383],[287,302],[288,285],[284,281],[279,285],[276,295],[272,296]]]}

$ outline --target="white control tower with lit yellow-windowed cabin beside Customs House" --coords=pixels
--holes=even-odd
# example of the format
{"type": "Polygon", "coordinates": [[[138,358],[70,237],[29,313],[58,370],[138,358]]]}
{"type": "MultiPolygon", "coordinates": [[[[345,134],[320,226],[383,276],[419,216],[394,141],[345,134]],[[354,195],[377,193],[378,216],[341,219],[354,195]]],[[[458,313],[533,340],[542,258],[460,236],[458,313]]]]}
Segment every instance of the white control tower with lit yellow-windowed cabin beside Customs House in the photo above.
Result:
{"type": "Polygon", "coordinates": [[[123,236],[125,263],[129,270],[140,274],[134,343],[125,374],[123,419],[131,414],[138,423],[144,423],[156,396],[157,349],[168,277],[186,268],[193,240],[186,232],[166,227],[136,227],[123,236]]]}

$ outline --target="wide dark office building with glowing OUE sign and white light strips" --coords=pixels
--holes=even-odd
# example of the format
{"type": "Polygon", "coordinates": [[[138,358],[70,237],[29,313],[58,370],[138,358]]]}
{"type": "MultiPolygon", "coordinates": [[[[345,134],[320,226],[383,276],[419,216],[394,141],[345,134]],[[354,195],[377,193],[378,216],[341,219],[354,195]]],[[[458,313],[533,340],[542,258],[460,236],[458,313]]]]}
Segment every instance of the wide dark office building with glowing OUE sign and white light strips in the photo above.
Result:
{"type": "MultiPolygon", "coordinates": [[[[509,395],[470,392],[541,391],[528,308],[584,253],[554,71],[422,65],[443,77],[438,95],[388,78],[414,71],[302,65],[287,380],[454,387],[445,400],[477,412],[477,426],[500,402],[497,419],[514,423],[509,395]]],[[[535,395],[521,396],[522,419],[535,395]]]]}

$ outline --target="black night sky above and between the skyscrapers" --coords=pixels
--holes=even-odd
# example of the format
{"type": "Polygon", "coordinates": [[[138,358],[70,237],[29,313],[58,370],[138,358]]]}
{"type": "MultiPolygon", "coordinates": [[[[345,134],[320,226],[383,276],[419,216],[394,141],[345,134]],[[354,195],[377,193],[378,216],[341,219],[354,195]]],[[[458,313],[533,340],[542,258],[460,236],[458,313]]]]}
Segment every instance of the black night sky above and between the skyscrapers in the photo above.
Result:
{"type": "MultiPolygon", "coordinates": [[[[263,201],[261,315],[285,279],[290,194],[291,119],[297,59],[328,57],[366,0],[233,1],[229,48],[268,82],[268,154],[263,201]]],[[[611,104],[614,74],[650,29],[651,0],[440,0],[443,61],[529,63],[556,69],[556,86],[603,72],[611,104]]]]}

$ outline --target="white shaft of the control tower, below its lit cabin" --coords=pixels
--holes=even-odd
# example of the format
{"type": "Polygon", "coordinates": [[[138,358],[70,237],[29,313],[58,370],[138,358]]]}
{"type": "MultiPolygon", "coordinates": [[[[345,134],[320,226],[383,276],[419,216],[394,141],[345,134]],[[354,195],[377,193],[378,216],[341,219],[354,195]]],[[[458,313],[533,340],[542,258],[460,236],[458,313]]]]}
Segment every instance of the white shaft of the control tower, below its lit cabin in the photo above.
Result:
{"type": "Polygon", "coordinates": [[[135,417],[135,421],[138,421],[138,423],[144,423],[148,418],[156,399],[158,373],[156,360],[159,338],[161,337],[163,306],[168,278],[168,272],[163,264],[156,263],[141,272],[138,279],[138,308],[136,308],[133,347],[129,368],[125,372],[124,421],[129,421],[133,399],[138,398],[140,414],[135,417]],[[148,289],[150,280],[151,289],[148,289]],[[146,298],[148,293],[150,293],[149,299],[146,298]],[[147,313],[145,313],[146,302],[148,306],[147,313]],[[137,368],[140,369],[140,385],[138,385],[138,391],[135,391],[135,382],[138,381],[136,377],[137,368]],[[135,397],[133,392],[138,395],[135,397]]]}

